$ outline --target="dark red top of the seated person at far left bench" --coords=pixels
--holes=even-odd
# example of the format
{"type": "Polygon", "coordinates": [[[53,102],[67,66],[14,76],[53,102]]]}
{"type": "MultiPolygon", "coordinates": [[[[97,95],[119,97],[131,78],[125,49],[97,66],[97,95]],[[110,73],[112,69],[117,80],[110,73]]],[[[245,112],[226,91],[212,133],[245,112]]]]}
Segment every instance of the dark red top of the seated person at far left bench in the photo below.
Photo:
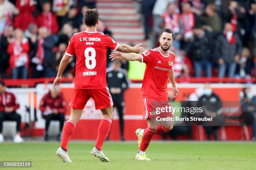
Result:
{"type": "Polygon", "coordinates": [[[4,93],[0,92],[0,112],[5,112],[5,107],[13,107],[14,110],[20,107],[15,95],[8,90],[5,90],[4,93]]]}

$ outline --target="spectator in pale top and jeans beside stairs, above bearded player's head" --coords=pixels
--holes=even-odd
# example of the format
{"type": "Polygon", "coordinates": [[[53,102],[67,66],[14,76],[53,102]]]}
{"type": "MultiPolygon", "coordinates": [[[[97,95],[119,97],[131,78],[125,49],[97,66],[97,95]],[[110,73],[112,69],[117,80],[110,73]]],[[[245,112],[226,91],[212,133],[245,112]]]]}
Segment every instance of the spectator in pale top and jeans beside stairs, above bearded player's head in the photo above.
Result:
{"type": "Polygon", "coordinates": [[[153,15],[153,40],[152,40],[152,48],[156,47],[156,42],[158,42],[158,38],[160,37],[159,32],[161,31],[161,24],[163,23],[162,15],[164,11],[166,11],[166,7],[168,3],[175,3],[176,0],[156,0],[154,5],[152,15],[153,15]]]}

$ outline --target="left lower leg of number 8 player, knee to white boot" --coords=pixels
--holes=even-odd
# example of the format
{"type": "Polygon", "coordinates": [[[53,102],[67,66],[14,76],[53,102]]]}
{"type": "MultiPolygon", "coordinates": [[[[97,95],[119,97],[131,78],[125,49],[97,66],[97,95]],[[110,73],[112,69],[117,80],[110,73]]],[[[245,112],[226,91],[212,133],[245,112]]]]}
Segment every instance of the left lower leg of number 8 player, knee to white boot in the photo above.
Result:
{"type": "Polygon", "coordinates": [[[61,158],[61,160],[63,162],[72,163],[72,161],[69,159],[69,155],[67,153],[67,145],[69,143],[69,139],[71,138],[78,121],[80,120],[80,117],[82,115],[82,111],[83,110],[71,108],[70,118],[65,123],[65,125],[63,127],[63,133],[62,133],[62,138],[61,138],[61,146],[56,151],[56,156],[61,158]]]}

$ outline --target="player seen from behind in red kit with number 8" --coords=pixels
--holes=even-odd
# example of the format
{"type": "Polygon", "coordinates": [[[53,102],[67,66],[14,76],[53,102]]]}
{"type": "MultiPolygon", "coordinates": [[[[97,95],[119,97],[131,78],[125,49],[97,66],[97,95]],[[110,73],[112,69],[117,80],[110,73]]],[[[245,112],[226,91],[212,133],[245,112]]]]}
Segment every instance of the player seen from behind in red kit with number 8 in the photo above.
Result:
{"type": "Polygon", "coordinates": [[[72,107],[70,118],[64,125],[61,147],[56,152],[56,155],[63,162],[72,162],[67,154],[67,145],[82,115],[82,110],[90,97],[95,101],[95,108],[100,109],[103,115],[98,128],[96,144],[92,149],[91,155],[99,158],[102,162],[109,161],[102,152],[102,145],[110,131],[113,117],[113,101],[106,83],[107,49],[110,48],[121,52],[143,52],[143,48],[140,45],[130,47],[125,44],[118,44],[110,36],[97,32],[98,17],[97,9],[85,11],[84,25],[86,25],[86,31],[78,32],[70,38],[54,80],[55,88],[61,82],[61,74],[67,66],[69,58],[76,55],[75,87],[69,104],[72,107]]]}

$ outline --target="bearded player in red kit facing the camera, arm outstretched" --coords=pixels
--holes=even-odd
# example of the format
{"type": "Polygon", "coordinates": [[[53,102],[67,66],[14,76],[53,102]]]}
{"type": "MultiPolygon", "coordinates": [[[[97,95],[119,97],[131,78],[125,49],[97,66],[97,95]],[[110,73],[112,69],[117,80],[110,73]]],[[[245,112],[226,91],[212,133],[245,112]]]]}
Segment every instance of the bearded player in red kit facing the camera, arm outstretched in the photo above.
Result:
{"type": "MultiPolygon", "coordinates": [[[[157,118],[161,115],[156,114],[152,110],[153,105],[161,105],[160,103],[169,103],[167,84],[172,83],[173,97],[179,95],[174,79],[174,71],[172,69],[175,55],[169,48],[172,45],[174,34],[169,28],[161,30],[159,38],[160,47],[147,50],[142,54],[122,54],[121,52],[112,52],[110,58],[112,60],[122,58],[130,61],[140,61],[146,63],[146,70],[142,82],[142,106],[143,119],[147,119],[148,128],[137,129],[139,151],[136,160],[150,160],[146,157],[146,149],[151,138],[156,134],[169,132],[172,130],[172,122],[163,122],[158,125],[157,118]]],[[[164,113],[165,114],[165,113],[164,113]]]]}

